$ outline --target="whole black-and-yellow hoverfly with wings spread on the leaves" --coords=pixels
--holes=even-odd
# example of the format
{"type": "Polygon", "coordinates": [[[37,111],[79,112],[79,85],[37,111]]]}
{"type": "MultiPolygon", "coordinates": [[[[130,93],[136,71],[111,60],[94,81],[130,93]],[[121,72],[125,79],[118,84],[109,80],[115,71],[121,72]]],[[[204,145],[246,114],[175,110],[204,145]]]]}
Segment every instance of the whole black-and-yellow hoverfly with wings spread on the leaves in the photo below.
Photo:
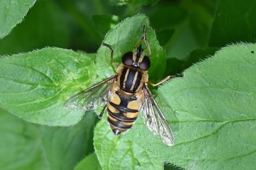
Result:
{"type": "MultiPolygon", "coordinates": [[[[105,43],[102,45],[110,49],[112,61],[113,48],[105,43]]],[[[104,106],[99,117],[101,118],[107,111],[108,123],[114,134],[121,134],[130,129],[139,113],[142,113],[148,128],[167,145],[174,145],[174,134],[148,89],[148,85],[159,85],[174,76],[167,76],[156,84],[148,81],[150,55],[150,44],[146,38],[146,26],[144,25],[143,36],[137,41],[133,51],[122,56],[122,63],[117,68],[117,73],[71,96],[65,102],[65,107],[89,111],[104,106]],[[148,55],[143,51],[143,42],[145,42],[148,55]]]]}

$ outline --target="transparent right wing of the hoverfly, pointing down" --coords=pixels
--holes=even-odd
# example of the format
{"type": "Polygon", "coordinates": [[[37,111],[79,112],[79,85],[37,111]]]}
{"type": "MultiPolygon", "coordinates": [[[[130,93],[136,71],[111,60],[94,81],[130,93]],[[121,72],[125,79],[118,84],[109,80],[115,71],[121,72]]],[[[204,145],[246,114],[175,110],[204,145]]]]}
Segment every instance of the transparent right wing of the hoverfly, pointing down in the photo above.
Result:
{"type": "Polygon", "coordinates": [[[146,85],[143,86],[143,92],[144,99],[140,111],[143,113],[145,124],[154,134],[158,135],[164,143],[169,146],[174,145],[172,129],[156,101],[152,98],[150,90],[146,85]]]}

